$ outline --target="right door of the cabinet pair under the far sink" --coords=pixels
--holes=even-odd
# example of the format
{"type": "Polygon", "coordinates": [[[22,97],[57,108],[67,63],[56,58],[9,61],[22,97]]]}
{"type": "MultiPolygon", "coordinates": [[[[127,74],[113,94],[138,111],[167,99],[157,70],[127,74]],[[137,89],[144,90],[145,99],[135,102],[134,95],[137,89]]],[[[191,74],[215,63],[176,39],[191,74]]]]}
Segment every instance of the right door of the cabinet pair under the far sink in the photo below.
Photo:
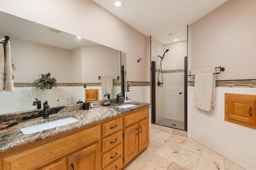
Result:
{"type": "Polygon", "coordinates": [[[139,152],[149,144],[149,119],[139,122],[139,152]]]}

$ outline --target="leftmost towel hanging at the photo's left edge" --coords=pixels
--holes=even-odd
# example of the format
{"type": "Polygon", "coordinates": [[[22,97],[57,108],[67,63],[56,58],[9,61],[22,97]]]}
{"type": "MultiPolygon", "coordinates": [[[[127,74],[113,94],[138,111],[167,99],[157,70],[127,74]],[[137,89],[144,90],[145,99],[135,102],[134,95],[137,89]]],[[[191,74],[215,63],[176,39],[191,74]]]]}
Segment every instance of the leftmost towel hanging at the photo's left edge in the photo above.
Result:
{"type": "MultiPolygon", "coordinates": [[[[0,42],[5,42],[5,39],[0,42]]],[[[0,92],[4,91],[4,44],[0,43],[0,92]]]]}

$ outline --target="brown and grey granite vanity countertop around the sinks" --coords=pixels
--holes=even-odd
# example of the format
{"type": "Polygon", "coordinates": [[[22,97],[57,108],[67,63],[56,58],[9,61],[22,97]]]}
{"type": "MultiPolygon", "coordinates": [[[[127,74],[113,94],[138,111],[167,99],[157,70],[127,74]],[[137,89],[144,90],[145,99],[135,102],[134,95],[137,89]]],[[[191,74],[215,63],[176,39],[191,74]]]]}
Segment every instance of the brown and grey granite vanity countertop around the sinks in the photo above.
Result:
{"type": "MultiPolygon", "coordinates": [[[[106,100],[97,102],[98,107],[94,107],[94,108],[90,107],[89,110],[83,110],[82,104],[68,105],[66,107],[62,107],[62,109],[57,113],[49,115],[48,119],[43,119],[42,117],[38,117],[30,121],[17,123],[16,125],[12,125],[5,129],[0,129],[0,152],[17,148],[19,146],[36,142],[38,140],[42,140],[44,138],[48,138],[64,132],[68,132],[76,128],[84,127],[86,125],[103,121],[103,120],[127,113],[129,111],[133,111],[133,110],[140,109],[142,107],[146,107],[150,105],[150,103],[142,103],[142,102],[134,102],[134,101],[129,103],[116,104],[114,100],[110,100],[110,105],[103,106],[102,105],[103,102],[106,102],[106,100]],[[116,107],[124,104],[134,104],[136,106],[130,107],[127,109],[116,107]],[[30,127],[33,125],[47,123],[50,121],[64,119],[67,117],[73,117],[78,119],[79,121],[70,123],[68,125],[51,128],[48,130],[35,132],[32,134],[23,134],[22,131],[20,130],[20,128],[30,127]]],[[[15,116],[20,117],[20,115],[22,114],[20,113],[16,115],[10,114],[9,117],[12,117],[12,118],[15,116]]],[[[6,118],[8,117],[8,115],[4,115],[4,117],[6,118]]]]}

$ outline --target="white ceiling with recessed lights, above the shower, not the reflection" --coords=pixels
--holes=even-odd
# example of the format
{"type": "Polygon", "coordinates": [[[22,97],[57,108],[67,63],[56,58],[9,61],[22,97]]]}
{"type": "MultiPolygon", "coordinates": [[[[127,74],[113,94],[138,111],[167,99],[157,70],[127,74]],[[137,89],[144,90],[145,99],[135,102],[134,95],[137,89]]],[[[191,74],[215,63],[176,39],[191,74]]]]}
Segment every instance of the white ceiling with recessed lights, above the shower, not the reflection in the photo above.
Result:
{"type": "Polygon", "coordinates": [[[92,1],[145,36],[166,45],[174,43],[174,39],[187,40],[187,25],[227,0],[123,0],[122,7],[113,6],[112,0],[92,1]]]}

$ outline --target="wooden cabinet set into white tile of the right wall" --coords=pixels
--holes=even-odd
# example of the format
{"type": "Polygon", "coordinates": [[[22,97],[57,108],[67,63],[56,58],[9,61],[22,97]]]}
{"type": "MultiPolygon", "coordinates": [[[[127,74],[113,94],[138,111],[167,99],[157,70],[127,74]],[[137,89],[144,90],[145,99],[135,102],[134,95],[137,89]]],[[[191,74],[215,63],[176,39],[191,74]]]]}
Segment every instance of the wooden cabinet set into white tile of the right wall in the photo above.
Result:
{"type": "Polygon", "coordinates": [[[225,93],[225,121],[256,129],[256,95],[225,93]]]}

